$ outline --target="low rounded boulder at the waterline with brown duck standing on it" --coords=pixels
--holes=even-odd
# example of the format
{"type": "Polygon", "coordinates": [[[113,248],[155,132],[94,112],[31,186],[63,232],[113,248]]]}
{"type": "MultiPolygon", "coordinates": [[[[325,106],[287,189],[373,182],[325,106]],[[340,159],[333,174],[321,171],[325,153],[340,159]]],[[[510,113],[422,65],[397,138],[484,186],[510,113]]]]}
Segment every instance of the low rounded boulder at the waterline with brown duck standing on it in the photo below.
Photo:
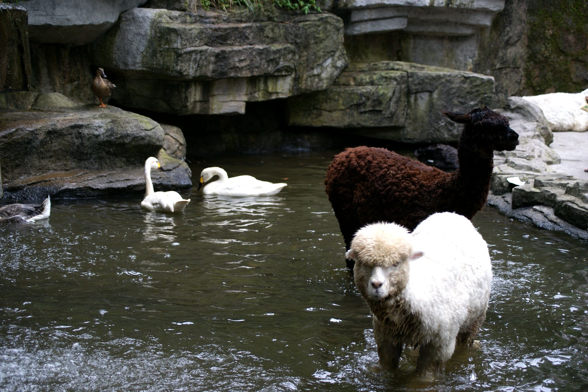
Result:
{"type": "Polygon", "coordinates": [[[119,196],[145,190],[143,167],[157,156],[156,190],[192,187],[181,159],[162,148],[155,121],[109,106],[0,110],[0,161],[5,196],[25,199],[119,196]]]}

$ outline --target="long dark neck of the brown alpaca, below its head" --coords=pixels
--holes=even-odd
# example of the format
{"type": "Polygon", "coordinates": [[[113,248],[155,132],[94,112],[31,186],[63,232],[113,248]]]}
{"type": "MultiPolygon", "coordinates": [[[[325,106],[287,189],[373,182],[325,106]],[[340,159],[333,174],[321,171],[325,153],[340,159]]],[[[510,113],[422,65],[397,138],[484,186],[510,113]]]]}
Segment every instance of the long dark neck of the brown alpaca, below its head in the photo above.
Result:
{"type": "Polygon", "coordinates": [[[471,219],[486,204],[492,177],[493,151],[477,146],[460,145],[457,151],[458,169],[450,179],[453,209],[471,219]]]}

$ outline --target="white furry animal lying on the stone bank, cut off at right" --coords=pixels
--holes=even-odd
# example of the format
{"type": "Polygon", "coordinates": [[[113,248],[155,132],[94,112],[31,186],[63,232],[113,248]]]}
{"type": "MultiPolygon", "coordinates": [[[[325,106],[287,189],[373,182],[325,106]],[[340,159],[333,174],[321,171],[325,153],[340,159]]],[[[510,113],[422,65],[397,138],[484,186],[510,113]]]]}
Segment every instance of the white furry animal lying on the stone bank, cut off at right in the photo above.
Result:
{"type": "Polygon", "coordinates": [[[588,89],[579,93],[554,92],[550,94],[523,96],[543,110],[543,115],[553,131],[588,130],[588,113],[580,109],[586,105],[588,89]]]}

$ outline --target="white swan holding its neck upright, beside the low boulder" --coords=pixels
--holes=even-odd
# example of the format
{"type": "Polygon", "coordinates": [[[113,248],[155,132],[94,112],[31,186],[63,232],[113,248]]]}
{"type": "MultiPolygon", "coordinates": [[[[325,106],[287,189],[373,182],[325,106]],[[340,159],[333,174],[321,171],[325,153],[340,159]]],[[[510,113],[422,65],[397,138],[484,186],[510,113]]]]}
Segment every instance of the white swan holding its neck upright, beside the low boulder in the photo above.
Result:
{"type": "Polygon", "coordinates": [[[161,165],[157,158],[152,156],[145,161],[145,198],[141,202],[141,208],[153,212],[183,212],[190,202],[190,199],[183,199],[183,197],[178,192],[175,192],[175,190],[168,190],[168,192],[153,192],[151,169],[161,169],[161,165]]]}

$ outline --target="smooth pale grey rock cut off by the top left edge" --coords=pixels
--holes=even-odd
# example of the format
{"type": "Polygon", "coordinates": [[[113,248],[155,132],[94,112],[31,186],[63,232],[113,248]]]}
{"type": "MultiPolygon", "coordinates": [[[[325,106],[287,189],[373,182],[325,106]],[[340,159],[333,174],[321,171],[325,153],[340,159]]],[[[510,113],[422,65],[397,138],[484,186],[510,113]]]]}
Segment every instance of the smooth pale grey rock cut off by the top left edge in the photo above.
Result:
{"type": "Polygon", "coordinates": [[[146,0],[25,0],[29,37],[42,43],[86,45],[108,31],[121,12],[146,0]]]}

